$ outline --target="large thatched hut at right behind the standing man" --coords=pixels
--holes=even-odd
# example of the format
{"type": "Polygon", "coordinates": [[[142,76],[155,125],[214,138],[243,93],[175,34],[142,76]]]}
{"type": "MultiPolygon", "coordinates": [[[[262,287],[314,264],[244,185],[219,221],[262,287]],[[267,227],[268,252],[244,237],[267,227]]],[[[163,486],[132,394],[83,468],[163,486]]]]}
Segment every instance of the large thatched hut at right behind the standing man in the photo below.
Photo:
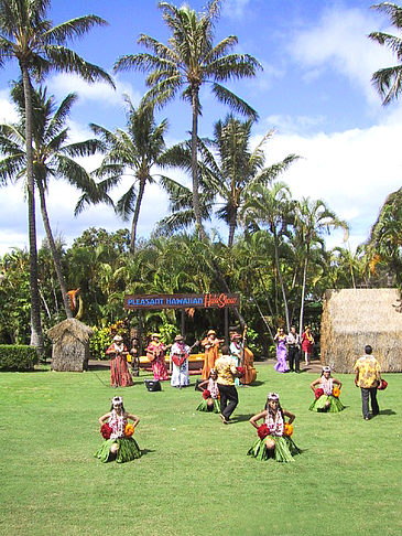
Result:
{"type": "Polygon", "coordinates": [[[320,329],[320,361],[351,373],[366,344],[382,372],[402,372],[402,313],[396,289],[327,290],[320,329]]]}

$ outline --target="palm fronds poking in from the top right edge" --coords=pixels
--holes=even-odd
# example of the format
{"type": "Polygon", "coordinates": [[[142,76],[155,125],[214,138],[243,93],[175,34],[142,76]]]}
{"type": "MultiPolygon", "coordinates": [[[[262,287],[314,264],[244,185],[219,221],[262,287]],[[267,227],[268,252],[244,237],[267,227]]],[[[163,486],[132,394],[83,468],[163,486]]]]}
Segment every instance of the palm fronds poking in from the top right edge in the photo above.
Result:
{"type": "MultiPolygon", "coordinates": [[[[402,7],[390,2],[381,2],[372,6],[372,9],[384,12],[393,26],[402,29],[402,7]]],[[[372,84],[382,98],[382,104],[387,106],[391,100],[396,99],[402,90],[402,37],[384,32],[372,32],[369,34],[372,41],[380,45],[385,45],[391,52],[396,54],[399,65],[380,68],[372,75],[372,84]]]]}

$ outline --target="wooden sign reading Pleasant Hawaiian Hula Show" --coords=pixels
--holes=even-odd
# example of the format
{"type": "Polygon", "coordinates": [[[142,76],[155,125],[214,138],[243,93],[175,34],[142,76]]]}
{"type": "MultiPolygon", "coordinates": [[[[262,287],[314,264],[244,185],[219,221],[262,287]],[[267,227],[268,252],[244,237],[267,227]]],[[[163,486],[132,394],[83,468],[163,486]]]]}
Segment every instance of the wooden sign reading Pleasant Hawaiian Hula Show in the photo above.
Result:
{"type": "Polygon", "coordinates": [[[184,309],[239,307],[240,294],[126,294],[124,309],[184,309]]]}

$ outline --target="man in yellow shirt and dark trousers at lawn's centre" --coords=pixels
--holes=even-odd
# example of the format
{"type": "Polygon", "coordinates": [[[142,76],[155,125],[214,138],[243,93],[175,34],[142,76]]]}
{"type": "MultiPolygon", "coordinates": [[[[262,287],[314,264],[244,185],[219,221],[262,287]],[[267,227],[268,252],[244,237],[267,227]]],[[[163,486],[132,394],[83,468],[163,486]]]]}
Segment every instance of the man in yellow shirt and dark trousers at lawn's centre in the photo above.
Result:
{"type": "Polygon", "coordinates": [[[221,356],[215,362],[215,369],[218,374],[218,389],[220,396],[220,418],[225,425],[239,403],[235,379],[241,374],[236,368],[235,360],[229,355],[229,346],[221,347],[221,356]]]}

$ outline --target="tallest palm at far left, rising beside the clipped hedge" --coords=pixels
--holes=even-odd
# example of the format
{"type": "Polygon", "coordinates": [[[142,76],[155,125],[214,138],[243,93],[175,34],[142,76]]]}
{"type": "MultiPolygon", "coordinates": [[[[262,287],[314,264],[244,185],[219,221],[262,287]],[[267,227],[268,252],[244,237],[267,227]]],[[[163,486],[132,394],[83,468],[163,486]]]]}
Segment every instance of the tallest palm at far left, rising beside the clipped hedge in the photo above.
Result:
{"type": "Polygon", "coordinates": [[[50,0],[0,0],[0,66],[17,60],[25,99],[26,185],[30,242],[31,344],[43,349],[41,305],[37,286],[37,253],[32,153],[31,77],[42,79],[50,71],[78,73],[87,82],[104,79],[113,85],[100,67],[86,62],[66,47],[69,39],[80,37],[106,21],[89,14],[52,26],[46,13],[50,0]]]}

